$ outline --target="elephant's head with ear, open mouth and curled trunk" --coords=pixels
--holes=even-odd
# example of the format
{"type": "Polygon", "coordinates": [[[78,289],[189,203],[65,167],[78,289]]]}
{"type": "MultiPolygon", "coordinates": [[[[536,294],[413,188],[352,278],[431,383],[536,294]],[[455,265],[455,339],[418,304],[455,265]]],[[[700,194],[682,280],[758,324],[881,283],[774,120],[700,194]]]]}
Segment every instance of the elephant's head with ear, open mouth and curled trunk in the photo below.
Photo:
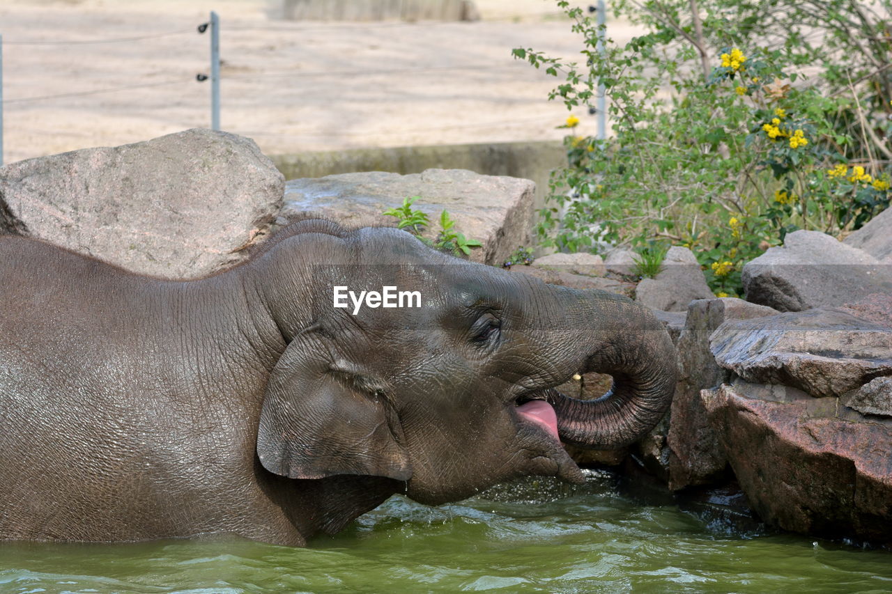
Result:
{"type": "Polygon", "coordinates": [[[253,276],[285,345],[257,438],[271,473],[387,477],[429,504],[522,474],[580,481],[560,441],[615,448],[669,405],[673,344],[624,297],[458,260],[395,229],[304,221],[276,240],[253,276]],[[335,307],[335,287],[420,302],[335,307]],[[614,377],[599,400],[554,389],[591,371],[614,377]]]}

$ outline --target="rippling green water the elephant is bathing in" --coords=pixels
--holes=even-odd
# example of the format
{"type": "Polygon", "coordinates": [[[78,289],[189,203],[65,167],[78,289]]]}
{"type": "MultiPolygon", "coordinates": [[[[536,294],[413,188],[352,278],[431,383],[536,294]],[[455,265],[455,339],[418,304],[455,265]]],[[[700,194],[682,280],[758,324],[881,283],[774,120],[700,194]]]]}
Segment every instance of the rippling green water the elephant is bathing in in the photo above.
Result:
{"type": "Polygon", "coordinates": [[[394,497],[310,549],[231,537],[0,543],[0,592],[892,591],[892,552],[770,532],[708,507],[681,511],[630,495],[609,474],[488,497],[442,507],[394,497]]]}

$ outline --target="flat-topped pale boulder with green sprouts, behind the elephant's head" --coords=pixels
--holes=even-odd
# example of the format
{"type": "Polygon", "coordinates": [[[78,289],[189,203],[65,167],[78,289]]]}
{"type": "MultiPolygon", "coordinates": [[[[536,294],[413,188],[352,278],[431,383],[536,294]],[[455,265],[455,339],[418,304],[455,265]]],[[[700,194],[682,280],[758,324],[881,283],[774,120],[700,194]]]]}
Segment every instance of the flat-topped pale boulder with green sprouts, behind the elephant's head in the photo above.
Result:
{"type": "Polygon", "coordinates": [[[402,176],[369,171],[318,178],[293,179],[285,184],[284,219],[331,219],[348,229],[396,227],[398,220],[382,214],[412,205],[430,219],[425,237],[440,230],[440,214],[448,210],[455,230],[483,243],[469,260],[500,265],[518,245],[532,242],[533,182],[517,177],[482,176],[465,169],[427,169],[402,176]]]}

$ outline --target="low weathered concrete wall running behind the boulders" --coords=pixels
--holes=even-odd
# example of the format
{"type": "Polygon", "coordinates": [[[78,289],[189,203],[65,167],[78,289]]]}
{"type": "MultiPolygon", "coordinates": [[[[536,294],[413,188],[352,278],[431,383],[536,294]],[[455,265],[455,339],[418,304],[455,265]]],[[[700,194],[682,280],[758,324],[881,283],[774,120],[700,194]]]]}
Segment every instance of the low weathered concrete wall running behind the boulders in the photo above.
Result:
{"type": "Polygon", "coordinates": [[[536,183],[536,209],[545,205],[551,169],[566,165],[564,147],[557,141],[352,149],[274,155],[271,159],[285,179],[358,171],[406,175],[425,169],[470,169],[483,175],[524,177],[536,183]]]}

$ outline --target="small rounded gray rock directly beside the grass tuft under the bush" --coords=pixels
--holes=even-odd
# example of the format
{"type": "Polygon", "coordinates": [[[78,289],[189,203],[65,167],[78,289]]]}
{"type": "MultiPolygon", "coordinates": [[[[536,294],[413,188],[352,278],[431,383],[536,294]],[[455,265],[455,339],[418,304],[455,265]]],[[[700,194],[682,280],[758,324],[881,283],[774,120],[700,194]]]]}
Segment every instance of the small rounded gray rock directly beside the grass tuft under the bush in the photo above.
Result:
{"type": "Polygon", "coordinates": [[[712,297],[697,257],[680,246],[669,248],[657,276],[645,278],[635,289],[635,301],[663,311],[686,311],[690,301],[712,297]]]}

